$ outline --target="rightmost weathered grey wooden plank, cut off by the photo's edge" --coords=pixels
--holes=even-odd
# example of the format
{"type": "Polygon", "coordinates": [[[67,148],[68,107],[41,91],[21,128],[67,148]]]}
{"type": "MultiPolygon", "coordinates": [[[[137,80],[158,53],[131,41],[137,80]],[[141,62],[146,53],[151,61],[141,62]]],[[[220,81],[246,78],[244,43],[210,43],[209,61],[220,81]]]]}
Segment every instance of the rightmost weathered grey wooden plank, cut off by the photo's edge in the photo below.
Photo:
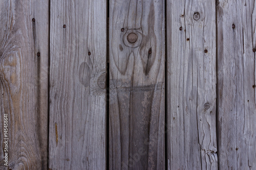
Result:
{"type": "Polygon", "coordinates": [[[219,169],[256,169],[255,1],[217,4],[219,169]]]}

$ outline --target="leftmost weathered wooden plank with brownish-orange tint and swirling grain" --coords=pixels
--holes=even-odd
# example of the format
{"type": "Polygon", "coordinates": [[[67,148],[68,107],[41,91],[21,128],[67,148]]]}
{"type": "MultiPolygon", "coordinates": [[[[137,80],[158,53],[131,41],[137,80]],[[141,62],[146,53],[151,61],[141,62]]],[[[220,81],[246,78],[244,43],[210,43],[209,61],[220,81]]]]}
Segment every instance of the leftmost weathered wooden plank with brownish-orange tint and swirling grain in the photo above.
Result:
{"type": "Polygon", "coordinates": [[[0,1],[0,169],[48,168],[48,9],[48,1],[0,1]]]}

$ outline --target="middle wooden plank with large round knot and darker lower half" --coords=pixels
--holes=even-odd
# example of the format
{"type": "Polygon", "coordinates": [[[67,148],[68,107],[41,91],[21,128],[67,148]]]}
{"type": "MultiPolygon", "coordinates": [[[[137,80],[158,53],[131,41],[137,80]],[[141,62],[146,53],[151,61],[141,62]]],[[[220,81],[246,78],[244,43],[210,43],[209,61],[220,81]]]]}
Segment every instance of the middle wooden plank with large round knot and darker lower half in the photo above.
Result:
{"type": "Polygon", "coordinates": [[[164,3],[110,1],[110,169],[164,169],[164,3]]]}

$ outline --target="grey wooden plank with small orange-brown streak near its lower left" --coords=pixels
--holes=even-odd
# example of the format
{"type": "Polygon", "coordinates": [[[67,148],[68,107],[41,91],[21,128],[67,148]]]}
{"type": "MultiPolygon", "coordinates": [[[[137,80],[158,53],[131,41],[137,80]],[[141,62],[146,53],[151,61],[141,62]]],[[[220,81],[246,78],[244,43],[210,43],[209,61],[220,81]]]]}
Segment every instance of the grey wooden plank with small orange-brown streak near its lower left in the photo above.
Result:
{"type": "Polygon", "coordinates": [[[49,168],[105,169],[106,1],[51,1],[49,168]]]}

